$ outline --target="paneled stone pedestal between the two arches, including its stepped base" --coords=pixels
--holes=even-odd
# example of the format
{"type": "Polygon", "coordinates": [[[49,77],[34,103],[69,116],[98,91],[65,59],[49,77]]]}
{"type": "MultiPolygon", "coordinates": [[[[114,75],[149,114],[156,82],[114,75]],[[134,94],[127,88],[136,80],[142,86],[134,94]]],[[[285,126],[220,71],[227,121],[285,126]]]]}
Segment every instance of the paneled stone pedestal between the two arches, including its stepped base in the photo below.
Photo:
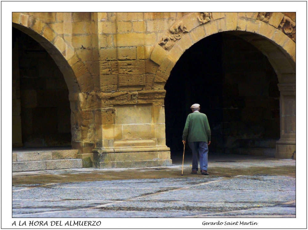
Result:
{"type": "Polygon", "coordinates": [[[170,166],[164,106],[124,105],[95,112],[96,168],[170,166]]]}

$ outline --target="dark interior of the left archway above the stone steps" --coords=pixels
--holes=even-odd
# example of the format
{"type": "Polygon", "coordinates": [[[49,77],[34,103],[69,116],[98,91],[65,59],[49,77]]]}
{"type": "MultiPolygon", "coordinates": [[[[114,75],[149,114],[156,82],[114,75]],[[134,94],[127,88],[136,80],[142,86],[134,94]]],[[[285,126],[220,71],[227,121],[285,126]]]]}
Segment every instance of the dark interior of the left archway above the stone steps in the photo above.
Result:
{"type": "Polygon", "coordinates": [[[13,33],[13,147],[71,145],[71,109],[63,74],[27,34],[13,33]]]}

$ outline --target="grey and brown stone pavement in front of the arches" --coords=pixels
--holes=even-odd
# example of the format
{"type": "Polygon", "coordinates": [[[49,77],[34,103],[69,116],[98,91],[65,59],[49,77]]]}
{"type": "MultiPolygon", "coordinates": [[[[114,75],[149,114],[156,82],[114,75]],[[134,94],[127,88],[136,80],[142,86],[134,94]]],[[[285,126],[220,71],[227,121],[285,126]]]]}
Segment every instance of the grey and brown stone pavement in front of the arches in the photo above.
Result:
{"type": "Polygon", "coordinates": [[[295,217],[295,160],[232,159],[13,173],[13,217],[295,217]]]}

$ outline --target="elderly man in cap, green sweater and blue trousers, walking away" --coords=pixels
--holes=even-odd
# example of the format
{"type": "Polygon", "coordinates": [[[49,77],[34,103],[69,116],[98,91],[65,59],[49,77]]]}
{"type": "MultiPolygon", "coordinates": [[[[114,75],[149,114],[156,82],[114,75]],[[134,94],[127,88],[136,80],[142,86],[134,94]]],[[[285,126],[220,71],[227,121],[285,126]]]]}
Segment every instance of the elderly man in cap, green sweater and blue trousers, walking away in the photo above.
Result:
{"type": "Polygon", "coordinates": [[[209,175],[208,169],[208,145],[211,143],[211,130],[208,118],[204,113],[200,113],[200,105],[193,104],[190,107],[193,113],[189,114],[183,131],[183,143],[186,143],[188,134],[188,144],[193,151],[193,167],[191,174],[197,174],[198,160],[200,156],[200,171],[202,175],[209,175]]]}

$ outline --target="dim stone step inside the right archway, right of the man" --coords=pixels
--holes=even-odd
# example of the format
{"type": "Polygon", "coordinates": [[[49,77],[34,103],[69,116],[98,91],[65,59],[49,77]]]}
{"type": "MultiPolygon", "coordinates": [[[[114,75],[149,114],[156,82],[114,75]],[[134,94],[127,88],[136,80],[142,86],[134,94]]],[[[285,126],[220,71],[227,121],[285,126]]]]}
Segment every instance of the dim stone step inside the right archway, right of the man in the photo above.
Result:
{"type": "Polygon", "coordinates": [[[276,148],[231,148],[229,154],[275,157],[276,148]]]}

